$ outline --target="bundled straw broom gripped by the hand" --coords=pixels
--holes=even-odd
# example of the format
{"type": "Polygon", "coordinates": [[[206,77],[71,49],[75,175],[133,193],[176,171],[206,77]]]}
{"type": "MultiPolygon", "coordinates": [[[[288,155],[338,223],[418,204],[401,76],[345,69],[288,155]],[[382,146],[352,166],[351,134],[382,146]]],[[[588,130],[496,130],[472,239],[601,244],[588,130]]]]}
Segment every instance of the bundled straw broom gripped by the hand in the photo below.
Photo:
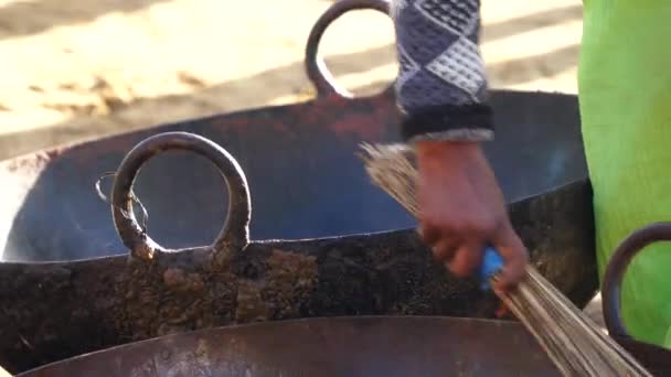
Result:
{"type": "MultiPolygon", "coordinates": [[[[373,182],[417,218],[414,151],[405,144],[362,149],[373,182]]],[[[564,376],[652,376],[532,266],[515,289],[499,298],[564,376]]]]}

